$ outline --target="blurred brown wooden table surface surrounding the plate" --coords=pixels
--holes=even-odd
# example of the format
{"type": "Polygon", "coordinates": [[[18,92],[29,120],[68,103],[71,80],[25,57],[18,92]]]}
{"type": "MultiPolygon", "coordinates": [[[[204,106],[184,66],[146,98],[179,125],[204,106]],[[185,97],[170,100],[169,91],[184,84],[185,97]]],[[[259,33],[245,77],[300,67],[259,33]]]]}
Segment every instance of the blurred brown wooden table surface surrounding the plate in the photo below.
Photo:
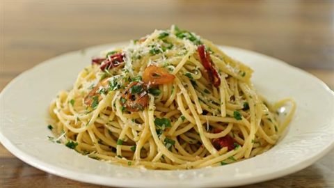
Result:
{"type": "MultiPolygon", "coordinates": [[[[334,1],[1,1],[1,84],[48,58],[170,24],[280,58],[334,88],[334,1]]],[[[334,150],[245,187],[334,187],[334,150]]],[[[100,187],[45,173],[0,146],[0,187],[100,187]]]]}

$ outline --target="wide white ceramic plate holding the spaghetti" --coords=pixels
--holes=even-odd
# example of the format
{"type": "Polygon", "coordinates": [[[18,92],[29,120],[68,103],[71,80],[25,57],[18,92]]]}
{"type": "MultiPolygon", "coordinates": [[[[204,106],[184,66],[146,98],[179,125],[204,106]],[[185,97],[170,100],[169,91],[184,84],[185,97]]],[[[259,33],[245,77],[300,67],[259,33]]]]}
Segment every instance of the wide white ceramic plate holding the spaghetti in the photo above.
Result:
{"type": "Polygon", "coordinates": [[[287,135],[263,155],[226,166],[151,171],[107,164],[48,141],[47,107],[58,91],[70,88],[77,73],[101,45],[51,58],[15,78],[3,89],[0,141],[38,169],[81,182],[122,187],[228,187],[278,178],[309,166],[334,146],[334,94],[323,82],[282,61],[255,52],[222,47],[250,65],[257,91],[270,101],[293,97],[296,116],[287,135]]]}

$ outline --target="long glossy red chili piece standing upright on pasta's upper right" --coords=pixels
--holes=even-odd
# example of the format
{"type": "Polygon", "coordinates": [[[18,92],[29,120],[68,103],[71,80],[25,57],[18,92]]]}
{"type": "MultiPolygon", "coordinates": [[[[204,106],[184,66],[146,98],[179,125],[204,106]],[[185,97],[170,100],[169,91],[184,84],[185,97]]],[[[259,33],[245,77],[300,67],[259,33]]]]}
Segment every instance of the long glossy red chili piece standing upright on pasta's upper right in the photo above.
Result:
{"type": "Polygon", "coordinates": [[[210,53],[205,50],[204,45],[199,45],[197,48],[198,55],[200,56],[200,61],[207,72],[209,81],[218,88],[221,85],[221,77],[218,75],[216,68],[214,68],[214,62],[210,57],[210,53]]]}

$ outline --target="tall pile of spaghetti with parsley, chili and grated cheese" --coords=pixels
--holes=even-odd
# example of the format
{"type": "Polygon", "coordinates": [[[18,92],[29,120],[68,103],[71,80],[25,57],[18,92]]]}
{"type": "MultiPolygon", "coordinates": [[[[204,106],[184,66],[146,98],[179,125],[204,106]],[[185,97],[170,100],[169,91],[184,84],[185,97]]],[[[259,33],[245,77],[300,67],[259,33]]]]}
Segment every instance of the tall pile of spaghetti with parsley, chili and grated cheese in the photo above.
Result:
{"type": "Polygon", "coordinates": [[[291,120],[291,99],[269,104],[253,70],[195,33],[171,26],[102,52],[51,102],[58,143],[147,169],[197,169],[269,150],[291,120]],[[278,109],[290,103],[285,118],[278,109]]]}

